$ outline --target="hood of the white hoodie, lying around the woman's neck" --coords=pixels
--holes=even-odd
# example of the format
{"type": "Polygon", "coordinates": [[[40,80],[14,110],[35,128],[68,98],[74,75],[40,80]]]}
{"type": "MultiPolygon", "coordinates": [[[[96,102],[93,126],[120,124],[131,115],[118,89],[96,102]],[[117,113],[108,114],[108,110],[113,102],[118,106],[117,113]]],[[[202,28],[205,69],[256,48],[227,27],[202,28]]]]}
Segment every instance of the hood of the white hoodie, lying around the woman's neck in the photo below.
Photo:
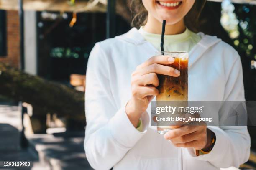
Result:
{"type": "MultiPolygon", "coordinates": [[[[191,51],[189,51],[189,66],[192,66],[193,63],[195,63],[195,61],[197,61],[209,48],[215,46],[221,41],[221,39],[217,38],[216,36],[205,35],[202,32],[197,34],[201,37],[201,40],[191,49],[191,51]]],[[[138,32],[137,28],[132,28],[127,33],[116,36],[115,38],[136,46],[146,45],[152,52],[158,52],[151,43],[143,38],[143,36],[138,32]]]]}

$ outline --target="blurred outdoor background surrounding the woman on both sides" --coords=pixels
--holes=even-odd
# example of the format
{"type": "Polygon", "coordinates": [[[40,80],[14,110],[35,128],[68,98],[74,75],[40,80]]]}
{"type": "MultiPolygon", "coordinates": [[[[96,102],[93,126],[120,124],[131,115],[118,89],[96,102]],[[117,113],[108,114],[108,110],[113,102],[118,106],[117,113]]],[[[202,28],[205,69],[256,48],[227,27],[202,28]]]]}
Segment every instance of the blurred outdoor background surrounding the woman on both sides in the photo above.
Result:
{"type": "MultiPolygon", "coordinates": [[[[0,161],[92,169],[83,148],[87,61],[96,42],[131,29],[129,3],[0,0],[0,161]]],[[[192,31],[238,51],[246,100],[256,100],[256,0],[207,1],[192,31]]],[[[251,157],[240,168],[256,169],[256,128],[248,129],[251,157]]]]}

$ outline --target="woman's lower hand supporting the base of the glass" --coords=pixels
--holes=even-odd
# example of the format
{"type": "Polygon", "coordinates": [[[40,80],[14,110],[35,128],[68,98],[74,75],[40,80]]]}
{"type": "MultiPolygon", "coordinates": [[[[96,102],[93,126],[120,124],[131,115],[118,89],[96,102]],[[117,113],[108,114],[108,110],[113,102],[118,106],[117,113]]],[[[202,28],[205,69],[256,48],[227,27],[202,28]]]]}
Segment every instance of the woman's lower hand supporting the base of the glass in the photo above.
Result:
{"type": "Polygon", "coordinates": [[[175,147],[193,147],[197,150],[209,151],[214,133],[205,123],[203,125],[193,125],[193,123],[170,130],[164,134],[164,138],[170,140],[175,147]]]}

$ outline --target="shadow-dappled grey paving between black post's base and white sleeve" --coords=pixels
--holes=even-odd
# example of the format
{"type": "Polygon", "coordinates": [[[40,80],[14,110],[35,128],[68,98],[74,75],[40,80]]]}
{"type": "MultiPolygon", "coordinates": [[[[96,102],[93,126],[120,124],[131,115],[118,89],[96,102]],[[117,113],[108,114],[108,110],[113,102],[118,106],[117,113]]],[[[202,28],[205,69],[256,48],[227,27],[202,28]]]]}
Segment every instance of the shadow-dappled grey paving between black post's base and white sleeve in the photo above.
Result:
{"type": "Polygon", "coordinates": [[[84,137],[61,136],[35,134],[28,140],[35,146],[40,160],[54,170],[91,170],[84,154],[84,137]]]}

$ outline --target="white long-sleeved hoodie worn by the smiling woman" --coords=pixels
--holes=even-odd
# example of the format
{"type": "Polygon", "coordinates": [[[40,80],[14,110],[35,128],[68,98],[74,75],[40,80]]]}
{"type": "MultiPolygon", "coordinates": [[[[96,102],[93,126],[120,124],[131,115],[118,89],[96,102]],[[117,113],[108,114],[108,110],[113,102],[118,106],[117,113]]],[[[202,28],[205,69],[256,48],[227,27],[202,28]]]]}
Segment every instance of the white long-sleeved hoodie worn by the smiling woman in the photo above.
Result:
{"type": "MultiPolygon", "coordinates": [[[[238,53],[216,37],[199,35],[201,41],[189,52],[189,100],[245,100],[238,53]]],[[[100,170],[217,170],[246,162],[246,126],[208,127],[216,135],[215,146],[200,156],[158,134],[150,125],[150,106],[141,116],[143,132],[133,127],[124,109],[131,98],[131,74],[155,52],[136,28],[93,48],[85,93],[84,148],[90,165],[100,170]]],[[[218,114],[218,108],[212,114],[218,114]]]]}

